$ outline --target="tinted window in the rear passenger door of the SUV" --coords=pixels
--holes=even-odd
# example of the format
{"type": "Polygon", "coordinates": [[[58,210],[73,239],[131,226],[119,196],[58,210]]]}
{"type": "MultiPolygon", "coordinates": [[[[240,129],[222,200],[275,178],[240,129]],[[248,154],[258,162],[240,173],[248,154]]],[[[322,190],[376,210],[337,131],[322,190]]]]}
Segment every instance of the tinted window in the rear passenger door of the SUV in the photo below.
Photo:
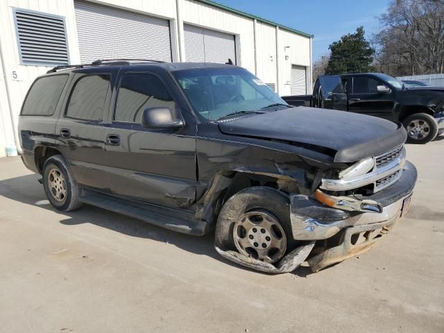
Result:
{"type": "Polygon", "coordinates": [[[69,98],[67,117],[101,121],[109,85],[108,75],[88,75],[78,79],[69,98]]]}

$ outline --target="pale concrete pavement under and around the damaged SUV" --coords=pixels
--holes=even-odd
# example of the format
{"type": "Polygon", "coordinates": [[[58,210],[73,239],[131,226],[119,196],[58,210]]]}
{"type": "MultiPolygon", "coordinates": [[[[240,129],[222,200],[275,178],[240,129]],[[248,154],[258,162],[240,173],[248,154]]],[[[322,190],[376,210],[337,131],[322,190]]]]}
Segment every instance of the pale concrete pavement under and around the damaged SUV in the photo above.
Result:
{"type": "Polygon", "coordinates": [[[265,275],[85,205],[61,214],[0,159],[0,332],[444,332],[444,137],[407,147],[411,210],[367,253],[265,275]]]}

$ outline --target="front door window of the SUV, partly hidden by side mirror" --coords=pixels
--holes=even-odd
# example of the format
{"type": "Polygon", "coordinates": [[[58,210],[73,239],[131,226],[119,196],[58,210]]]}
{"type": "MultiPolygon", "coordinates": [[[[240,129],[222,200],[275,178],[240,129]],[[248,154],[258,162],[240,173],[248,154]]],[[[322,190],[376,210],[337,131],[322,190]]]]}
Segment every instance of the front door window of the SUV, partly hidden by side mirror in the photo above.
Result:
{"type": "Polygon", "coordinates": [[[142,122],[146,108],[164,106],[174,111],[174,101],[164,83],[153,74],[125,74],[117,96],[115,121],[142,122]]]}

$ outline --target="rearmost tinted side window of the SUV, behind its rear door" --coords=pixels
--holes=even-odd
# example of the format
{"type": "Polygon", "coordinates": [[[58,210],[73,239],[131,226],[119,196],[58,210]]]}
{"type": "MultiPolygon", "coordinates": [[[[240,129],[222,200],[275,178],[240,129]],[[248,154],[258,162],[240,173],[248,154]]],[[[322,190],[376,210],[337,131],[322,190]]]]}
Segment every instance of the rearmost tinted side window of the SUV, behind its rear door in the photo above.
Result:
{"type": "Polygon", "coordinates": [[[26,96],[22,116],[52,116],[68,77],[64,74],[37,78],[26,96]]]}

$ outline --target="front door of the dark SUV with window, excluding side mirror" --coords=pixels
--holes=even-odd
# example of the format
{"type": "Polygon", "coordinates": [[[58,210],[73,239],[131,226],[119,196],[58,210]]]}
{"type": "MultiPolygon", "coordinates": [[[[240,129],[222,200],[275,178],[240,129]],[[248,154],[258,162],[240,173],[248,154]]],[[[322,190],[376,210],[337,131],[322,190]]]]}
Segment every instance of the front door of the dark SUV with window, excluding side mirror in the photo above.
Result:
{"type": "Polygon", "coordinates": [[[196,123],[144,128],[144,110],[160,106],[182,117],[157,74],[121,71],[105,144],[110,190],[155,205],[188,207],[196,199],[196,123]]]}

